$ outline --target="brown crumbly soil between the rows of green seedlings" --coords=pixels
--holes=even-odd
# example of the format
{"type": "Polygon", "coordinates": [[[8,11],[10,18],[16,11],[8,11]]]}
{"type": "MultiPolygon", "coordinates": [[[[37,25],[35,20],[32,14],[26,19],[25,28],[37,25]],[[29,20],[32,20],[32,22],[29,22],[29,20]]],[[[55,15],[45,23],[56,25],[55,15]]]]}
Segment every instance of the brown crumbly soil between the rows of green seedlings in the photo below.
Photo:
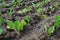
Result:
{"type": "MultiPolygon", "coordinates": [[[[9,8],[12,6],[12,1],[8,1],[8,0],[6,1],[7,1],[7,4],[10,4],[10,5],[0,9],[0,12],[2,12],[2,17],[5,19],[5,21],[7,19],[11,21],[15,21],[15,19],[18,19],[21,21],[22,19],[24,19],[25,15],[28,15],[30,16],[31,22],[27,24],[24,30],[20,32],[20,35],[17,35],[14,31],[7,30],[6,22],[4,22],[1,25],[1,27],[4,29],[4,33],[0,36],[0,40],[60,40],[60,28],[56,30],[56,32],[54,32],[52,36],[47,37],[46,31],[44,30],[44,25],[43,25],[44,23],[47,25],[47,27],[52,25],[54,16],[60,15],[60,9],[55,9],[55,11],[52,12],[52,14],[49,14],[49,11],[48,11],[48,14],[45,14],[47,15],[45,19],[42,18],[36,12],[36,10],[34,10],[34,8],[32,8],[33,11],[27,12],[24,15],[20,15],[18,11],[20,9],[25,8],[25,5],[32,7],[31,2],[37,3],[39,1],[42,1],[42,0],[24,0],[22,2],[21,7],[15,7],[13,16],[9,17],[9,15],[6,14],[6,11],[9,11],[9,8]],[[29,4],[26,4],[27,2],[29,2],[29,4]]],[[[42,8],[49,7],[54,2],[57,2],[57,1],[60,2],[60,0],[51,0],[49,4],[42,6],[42,8]]]]}

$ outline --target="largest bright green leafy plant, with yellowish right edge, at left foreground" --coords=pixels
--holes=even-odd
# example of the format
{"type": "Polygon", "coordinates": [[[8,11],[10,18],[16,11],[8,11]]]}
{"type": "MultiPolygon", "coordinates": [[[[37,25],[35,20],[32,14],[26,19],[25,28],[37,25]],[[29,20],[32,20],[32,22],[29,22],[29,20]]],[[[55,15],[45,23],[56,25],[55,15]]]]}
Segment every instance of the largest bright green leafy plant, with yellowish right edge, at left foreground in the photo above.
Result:
{"type": "Polygon", "coordinates": [[[22,20],[21,22],[18,20],[16,20],[15,22],[7,20],[6,23],[7,28],[15,30],[17,34],[19,34],[19,31],[23,30],[24,26],[26,26],[27,24],[24,20],[22,20]]]}

